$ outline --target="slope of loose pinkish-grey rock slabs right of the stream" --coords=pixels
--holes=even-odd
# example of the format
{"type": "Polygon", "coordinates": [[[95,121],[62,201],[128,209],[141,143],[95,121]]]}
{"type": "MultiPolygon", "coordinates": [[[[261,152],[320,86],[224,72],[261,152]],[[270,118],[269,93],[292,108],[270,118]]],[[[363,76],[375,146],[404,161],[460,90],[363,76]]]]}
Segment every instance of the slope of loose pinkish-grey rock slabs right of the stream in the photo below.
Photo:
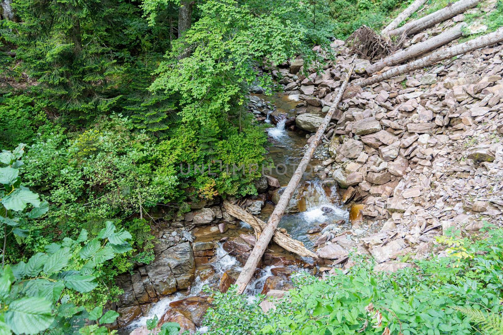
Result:
{"type": "MultiPolygon", "coordinates": [[[[415,40],[421,39],[407,43],[415,40]]],[[[339,56],[324,74],[301,75],[299,60],[275,73],[288,78],[286,93],[300,101],[298,128],[317,128],[351,63],[364,74],[368,60],[353,59],[343,44],[332,43],[339,56]]],[[[342,234],[326,231],[320,238],[326,246],[320,245],[318,254],[334,259],[334,266],[342,266],[354,245],[379,263],[406,253],[421,258],[435,246],[434,236],[449,228],[501,224],[501,73],[503,46],[495,46],[368,88],[349,87],[325,133],[331,158],[318,167],[319,176],[339,183],[344,203],[364,204],[363,217],[380,223],[380,231],[362,238],[363,222],[353,222],[355,229],[342,234]]],[[[405,264],[379,269],[400,266],[405,264]]]]}

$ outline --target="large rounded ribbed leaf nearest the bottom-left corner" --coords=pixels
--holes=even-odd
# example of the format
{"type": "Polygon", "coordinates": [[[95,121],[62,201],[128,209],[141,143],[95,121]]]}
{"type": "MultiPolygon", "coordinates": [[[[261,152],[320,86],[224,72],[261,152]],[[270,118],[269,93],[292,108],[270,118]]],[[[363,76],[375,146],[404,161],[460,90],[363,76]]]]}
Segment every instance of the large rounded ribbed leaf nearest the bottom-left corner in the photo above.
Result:
{"type": "Polygon", "coordinates": [[[36,334],[44,331],[54,320],[51,302],[38,297],[14,300],[5,313],[5,323],[15,334],[36,334]]]}

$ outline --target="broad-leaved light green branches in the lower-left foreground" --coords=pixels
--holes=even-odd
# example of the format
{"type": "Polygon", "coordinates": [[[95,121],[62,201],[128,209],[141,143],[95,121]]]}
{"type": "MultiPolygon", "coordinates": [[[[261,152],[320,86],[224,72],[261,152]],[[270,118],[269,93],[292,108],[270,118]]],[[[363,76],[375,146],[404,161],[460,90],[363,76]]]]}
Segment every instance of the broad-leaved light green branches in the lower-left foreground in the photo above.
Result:
{"type": "Polygon", "coordinates": [[[21,185],[19,168],[24,144],[13,151],[0,154],[0,224],[4,227],[4,249],[0,270],[0,327],[3,334],[37,334],[46,331],[73,334],[83,327],[85,318],[96,320],[95,325],[81,328],[81,334],[108,334],[100,323],[114,322],[119,315],[96,307],[88,316],[83,306],[75,305],[70,294],[87,294],[98,286],[100,267],[117,253],[131,250],[127,240],[131,234],[108,221],[98,236],[88,239],[88,232],[81,230],[76,240],[65,237],[62,243],[44,246],[44,251],[32,255],[27,262],[5,264],[6,241],[13,234],[18,243],[27,237],[27,230],[20,229],[23,218],[42,217],[48,211],[48,203],[41,202],[39,195],[21,185]],[[30,205],[31,211],[24,212],[30,205]],[[10,231],[8,230],[10,227],[10,231]]]}

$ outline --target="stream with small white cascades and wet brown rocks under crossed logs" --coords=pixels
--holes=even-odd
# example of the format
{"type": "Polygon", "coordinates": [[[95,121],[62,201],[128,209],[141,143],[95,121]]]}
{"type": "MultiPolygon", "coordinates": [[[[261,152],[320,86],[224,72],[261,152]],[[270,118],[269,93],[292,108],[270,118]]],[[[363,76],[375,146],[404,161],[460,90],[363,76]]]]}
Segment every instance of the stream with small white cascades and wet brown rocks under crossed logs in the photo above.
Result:
{"type": "MultiPolygon", "coordinates": [[[[266,222],[304,154],[308,133],[287,123],[297,115],[297,104],[283,94],[250,96],[250,112],[260,112],[259,122],[275,125],[267,129],[269,158],[275,167],[257,181],[259,195],[238,204],[266,222]]],[[[348,209],[340,206],[337,183],[318,175],[318,166],[327,157],[327,149],[320,148],[280,224],[311,250],[326,226],[337,225],[341,231],[351,227],[348,209]]],[[[125,291],[117,302],[120,332],[144,331],[142,326],[154,315],[163,322],[179,322],[186,330],[201,327],[209,306],[203,286],[226,291],[237,279],[256,240],[254,230],[228,215],[221,204],[219,197],[192,204],[191,212],[159,227],[155,261],[138,267],[133,276],[119,276],[118,283],[125,291]]],[[[271,244],[245,294],[253,300],[259,293],[288,290],[292,288],[290,274],[298,271],[314,274],[317,268],[313,259],[300,258],[271,244]]]]}

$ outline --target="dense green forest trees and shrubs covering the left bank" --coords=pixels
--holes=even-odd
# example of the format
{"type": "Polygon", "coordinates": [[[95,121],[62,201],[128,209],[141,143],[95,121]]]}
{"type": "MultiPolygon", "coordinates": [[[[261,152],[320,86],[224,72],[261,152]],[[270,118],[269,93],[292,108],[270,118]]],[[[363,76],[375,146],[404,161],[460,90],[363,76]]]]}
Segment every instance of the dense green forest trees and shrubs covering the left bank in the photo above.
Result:
{"type": "Polygon", "coordinates": [[[187,166],[270,164],[245,94],[252,84],[270,87],[261,68],[298,55],[321,65],[312,46],[333,35],[327,8],[15,0],[12,18],[0,13],[3,333],[73,333],[86,318],[96,322],[82,333],[107,332],[101,324],[112,318],[94,307],[121,294],[117,274],[152,261],[156,223],[190,202],[257,193],[260,169],[187,166]],[[127,247],[111,240],[116,230],[127,247]],[[87,248],[99,259],[82,255],[87,248]],[[60,266],[46,269],[48,259],[60,266]],[[27,301],[34,315],[15,310],[27,301]]]}

